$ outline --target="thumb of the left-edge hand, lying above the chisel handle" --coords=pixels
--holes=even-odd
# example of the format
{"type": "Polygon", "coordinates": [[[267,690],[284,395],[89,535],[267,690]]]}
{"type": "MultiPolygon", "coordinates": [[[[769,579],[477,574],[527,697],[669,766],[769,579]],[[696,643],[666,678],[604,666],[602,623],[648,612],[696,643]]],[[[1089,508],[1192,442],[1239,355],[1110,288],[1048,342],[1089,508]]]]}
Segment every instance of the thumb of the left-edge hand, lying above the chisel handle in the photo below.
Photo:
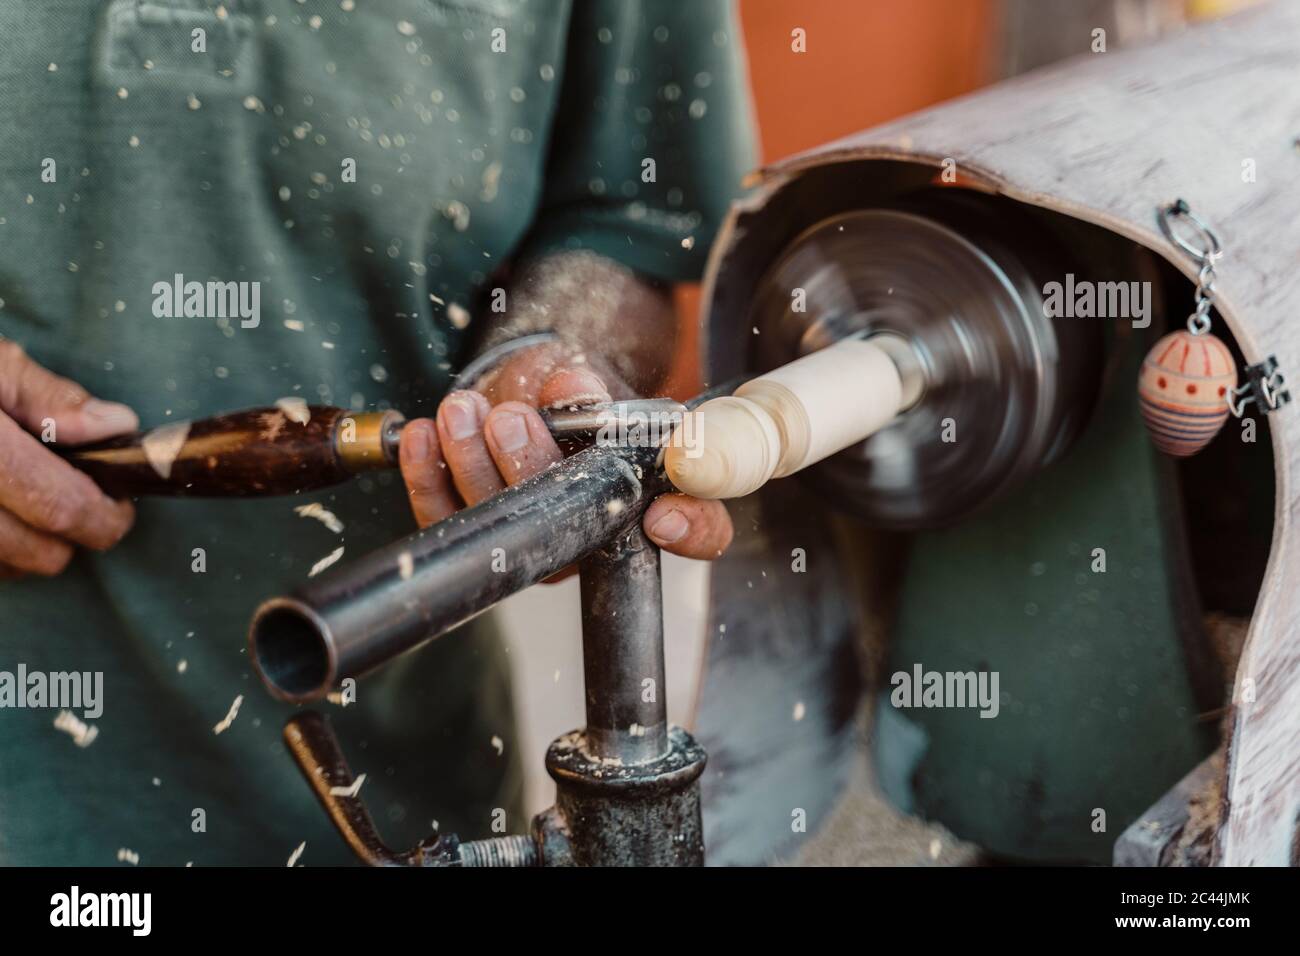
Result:
{"type": "Polygon", "coordinates": [[[0,341],[0,410],[43,441],[65,445],[134,432],[140,424],[125,405],[94,398],[8,341],[0,341]]]}

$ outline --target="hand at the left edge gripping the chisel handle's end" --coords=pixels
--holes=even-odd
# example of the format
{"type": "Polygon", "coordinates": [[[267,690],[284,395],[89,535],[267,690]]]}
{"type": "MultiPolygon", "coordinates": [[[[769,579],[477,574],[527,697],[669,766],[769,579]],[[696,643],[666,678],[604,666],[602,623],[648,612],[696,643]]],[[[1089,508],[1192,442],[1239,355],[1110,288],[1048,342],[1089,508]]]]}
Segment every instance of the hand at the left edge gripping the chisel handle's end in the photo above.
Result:
{"type": "Polygon", "coordinates": [[[75,545],[107,550],[135,519],[130,502],[105,496],[36,436],[79,445],[138,425],[125,405],[91,398],[0,341],[0,578],[57,575],[75,545]]]}

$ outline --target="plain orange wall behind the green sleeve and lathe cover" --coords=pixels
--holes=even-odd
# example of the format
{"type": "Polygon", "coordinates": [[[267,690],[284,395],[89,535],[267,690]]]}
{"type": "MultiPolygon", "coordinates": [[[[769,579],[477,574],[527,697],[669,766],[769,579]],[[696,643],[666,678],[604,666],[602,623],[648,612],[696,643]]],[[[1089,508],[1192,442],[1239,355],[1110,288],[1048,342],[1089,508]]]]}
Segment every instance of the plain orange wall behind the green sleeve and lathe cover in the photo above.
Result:
{"type": "MultiPolygon", "coordinates": [[[[741,0],[763,163],[989,82],[996,0],[741,0]],[[802,27],[807,51],[790,49],[802,27]]],[[[699,392],[699,287],[677,290],[667,392],[699,392]]]]}

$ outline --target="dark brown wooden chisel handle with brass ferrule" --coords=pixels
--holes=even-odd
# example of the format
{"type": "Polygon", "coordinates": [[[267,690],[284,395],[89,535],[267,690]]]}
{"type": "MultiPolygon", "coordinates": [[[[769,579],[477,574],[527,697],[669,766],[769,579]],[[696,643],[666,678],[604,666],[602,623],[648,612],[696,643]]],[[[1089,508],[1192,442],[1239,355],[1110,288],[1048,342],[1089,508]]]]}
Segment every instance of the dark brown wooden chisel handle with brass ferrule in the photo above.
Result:
{"type": "Polygon", "coordinates": [[[62,450],[108,494],[294,494],[396,466],[400,412],[283,402],[62,450]]]}

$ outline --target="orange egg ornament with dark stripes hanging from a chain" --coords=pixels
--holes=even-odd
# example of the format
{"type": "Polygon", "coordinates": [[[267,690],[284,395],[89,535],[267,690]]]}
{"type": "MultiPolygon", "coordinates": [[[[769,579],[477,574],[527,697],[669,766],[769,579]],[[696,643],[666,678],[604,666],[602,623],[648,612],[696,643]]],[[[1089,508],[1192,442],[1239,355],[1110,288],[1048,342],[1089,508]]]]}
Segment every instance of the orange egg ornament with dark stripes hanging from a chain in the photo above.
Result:
{"type": "Polygon", "coordinates": [[[1138,398],[1156,447],[1186,458],[1205,447],[1227,420],[1236,363],[1216,336],[1171,332],[1147,352],[1138,398]]]}

